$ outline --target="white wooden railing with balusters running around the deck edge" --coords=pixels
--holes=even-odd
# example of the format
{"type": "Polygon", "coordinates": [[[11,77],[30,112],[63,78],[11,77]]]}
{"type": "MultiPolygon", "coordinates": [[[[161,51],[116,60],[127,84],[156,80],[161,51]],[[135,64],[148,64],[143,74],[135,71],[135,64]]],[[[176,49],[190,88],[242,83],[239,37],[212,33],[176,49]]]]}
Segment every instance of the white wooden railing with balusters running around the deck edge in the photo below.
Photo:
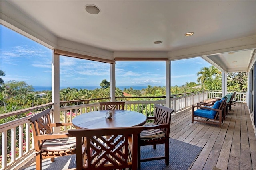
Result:
{"type": "MultiPolygon", "coordinates": [[[[241,94],[245,95],[245,94],[241,94]]],[[[175,113],[181,111],[183,109],[187,109],[192,104],[196,102],[206,100],[208,98],[207,91],[200,91],[200,92],[190,92],[184,94],[176,94],[171,96],[170,105],[171,108],[175,110],[175,113]]],[[[109,100],[110,98],[102,98],[104,100],[109,100]]],[[[95,100],[95,99],[94,99],[95,100]]],[[[96,99],[99,101],[100,99],[96,99]]],[[[146,116],[153,115],[153,108],[154,104],[160,104],[165,106],[166,100],[165,96],[158,96],[158,97],[117,97],[117,100],[126,101],[125,109],[137,111],[140,113],[145,114],[146,116]],[[136,101],[126,101],[128,98],[137,98],[136,101]]],[[[91,100],[90,100],[91,101],[91,100]]],[[[91,111],[99,110],[100,105],[98,102],[96,103],[88,103],[88,100],[79,100],[79,101],[64,101],[62,103],[72,102],[73,104],[78,103],[85,103],[79,105],[72,105],[72,106],[64,106],[60,107],[60,114],[61,119],[63,122],[72,122],[72,119],[81,113],[88,113],[91,111]],[[86,104],[87,103],[87,104],[86,104]]],[[[19,115],[22,113],[26,113],[28,111],[38,111],[38,109],[45,109],[51,106],[53,103],[48,103],[40,106],[30,107],[27,109],[14,111],[6,114],[0,115],[0,118],[7,118],[8,116],[19,115]]],[[[51,109],[51,113],[52,113],[51,109]]],[[[12,168],[20,161],[26,159],[28,155],[33,153],[33,141],[32,141],[32,131],[30,129],[30,123],[28,118],[31,115],[26,117],[22,117],[20,119],[10,121],[0,125],[0,142],[1,142],[1,154],[2,157],[0,158],[0,169],[7,169],[12,168]],[[9,146],[8,143],[11,143],[9,146]],[[10,152],[7,152],[7,147],[10,147],[10,152]]],[[[62,129],[66,131],[72,127],[65,127],[62,129]]],[[[0,154],[0,156],[1,156],[0,154]]]]}

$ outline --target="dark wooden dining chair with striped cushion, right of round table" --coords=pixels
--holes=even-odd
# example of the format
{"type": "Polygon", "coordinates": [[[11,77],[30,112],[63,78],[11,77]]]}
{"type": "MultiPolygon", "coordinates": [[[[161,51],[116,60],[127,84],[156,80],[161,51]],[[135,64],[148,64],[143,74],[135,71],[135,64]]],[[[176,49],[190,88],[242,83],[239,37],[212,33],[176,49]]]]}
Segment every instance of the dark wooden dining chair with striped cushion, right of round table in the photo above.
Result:
{"type": "Polygon", "coordinates": [[[169,133],[171,124],[171,114],[173,109],[164,107],[158,104],[154,106],[154,116],[147,117],[147,120],[153,120],[152,123],[146,123],[138,139],[138,168],[140,168],[140,162],[165,159],[165,164],[169,164],[169,133]],[[141,159],[140,149],[141,146],[153,145],[156,149],[156,145],[164,144],[165,155],[153,158],[141,159]]]}

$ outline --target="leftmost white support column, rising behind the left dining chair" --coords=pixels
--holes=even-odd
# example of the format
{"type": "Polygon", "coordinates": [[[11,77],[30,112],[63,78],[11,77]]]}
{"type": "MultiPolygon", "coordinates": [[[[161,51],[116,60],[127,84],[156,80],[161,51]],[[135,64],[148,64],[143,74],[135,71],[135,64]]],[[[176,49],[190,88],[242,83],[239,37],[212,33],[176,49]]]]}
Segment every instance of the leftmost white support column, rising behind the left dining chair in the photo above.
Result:
{"type": "MultiPolygon", "coordinates": [[[[60,55],[52,51],[52,105],[53,122],[60,122],[60,55]]],[[[59,133],[60,128],[55,127],[54,133],[59,133]]]]}

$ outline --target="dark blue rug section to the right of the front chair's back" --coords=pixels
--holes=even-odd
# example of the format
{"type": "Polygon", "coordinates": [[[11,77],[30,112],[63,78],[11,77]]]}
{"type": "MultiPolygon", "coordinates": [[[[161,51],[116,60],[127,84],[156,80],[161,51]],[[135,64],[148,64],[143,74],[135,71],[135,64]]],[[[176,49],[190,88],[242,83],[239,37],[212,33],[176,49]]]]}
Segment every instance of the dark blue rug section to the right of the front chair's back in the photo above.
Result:
{"type": "MultiPolygon", "coordinates": [[[[142,162],[141,170],[187,170],[202,150],[201,147],[176,139],[171,138],[170,141],[169,166],[166,166],[165,160],[154,160],[142,162]]],[[[153,149],[152,146],[143,146],[141,155],[142,158],[164,156],[164,145],[156,145],[156,149],[153,149]]]]}

